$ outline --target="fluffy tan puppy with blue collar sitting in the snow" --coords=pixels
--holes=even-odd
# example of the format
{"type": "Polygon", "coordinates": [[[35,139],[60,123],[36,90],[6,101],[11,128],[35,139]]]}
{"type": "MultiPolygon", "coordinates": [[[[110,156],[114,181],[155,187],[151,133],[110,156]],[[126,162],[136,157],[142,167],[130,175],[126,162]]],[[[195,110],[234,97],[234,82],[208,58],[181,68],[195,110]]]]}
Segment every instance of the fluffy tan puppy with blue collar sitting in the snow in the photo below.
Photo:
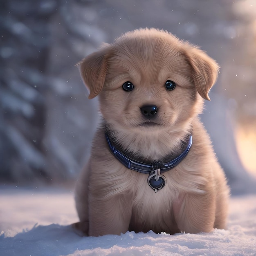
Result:
{"type": "Polygon", "coordinates": [[[79,64],[101,124],[76,184],[89,236],[224,229],[229,188],[198,114],[218,65],[166,31],[140,29],[79,64]]]}

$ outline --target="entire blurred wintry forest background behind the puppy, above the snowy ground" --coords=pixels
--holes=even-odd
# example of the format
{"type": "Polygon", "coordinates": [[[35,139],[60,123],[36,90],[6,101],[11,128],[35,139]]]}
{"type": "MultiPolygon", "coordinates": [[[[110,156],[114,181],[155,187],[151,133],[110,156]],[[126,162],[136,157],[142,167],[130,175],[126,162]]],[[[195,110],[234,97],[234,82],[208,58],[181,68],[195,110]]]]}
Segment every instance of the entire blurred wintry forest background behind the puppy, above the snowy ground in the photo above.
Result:
{"type": "Polygon", "coordinates": [[[256,192],[255,0],[1,0],[1,185],[74,185],[99,119],[74,65],[140,27],[220,64],[201,118],[232,194],[256,192]]]}

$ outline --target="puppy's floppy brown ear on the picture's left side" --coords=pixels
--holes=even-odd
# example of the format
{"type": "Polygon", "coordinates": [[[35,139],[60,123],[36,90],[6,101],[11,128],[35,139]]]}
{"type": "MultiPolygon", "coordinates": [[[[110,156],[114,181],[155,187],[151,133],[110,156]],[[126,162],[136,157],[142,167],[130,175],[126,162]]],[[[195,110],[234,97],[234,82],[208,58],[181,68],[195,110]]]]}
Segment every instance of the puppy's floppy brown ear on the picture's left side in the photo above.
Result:
{"type": "Polygon", "coordinates": [[[88,55],[76,64],[76,66],[80,67],[83,82],[90,91],[89,99],[96,97],[101,92],[105,83],[109,46],[104,44],[98,52],[88,55]]]}

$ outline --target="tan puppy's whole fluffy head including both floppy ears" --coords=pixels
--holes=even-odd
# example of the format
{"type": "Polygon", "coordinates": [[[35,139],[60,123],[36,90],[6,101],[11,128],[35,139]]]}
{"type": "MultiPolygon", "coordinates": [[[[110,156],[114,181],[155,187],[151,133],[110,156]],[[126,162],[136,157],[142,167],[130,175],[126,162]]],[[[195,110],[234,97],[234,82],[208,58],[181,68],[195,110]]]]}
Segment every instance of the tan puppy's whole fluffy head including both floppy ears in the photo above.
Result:
{"type": "Polygon", "coordinates": [[[79,65],[108,124],[133,130],[187,124],[201,111],[202,98],[210,100],[218,74],[198,47],[157,29],[128,32],[79,65]]]}

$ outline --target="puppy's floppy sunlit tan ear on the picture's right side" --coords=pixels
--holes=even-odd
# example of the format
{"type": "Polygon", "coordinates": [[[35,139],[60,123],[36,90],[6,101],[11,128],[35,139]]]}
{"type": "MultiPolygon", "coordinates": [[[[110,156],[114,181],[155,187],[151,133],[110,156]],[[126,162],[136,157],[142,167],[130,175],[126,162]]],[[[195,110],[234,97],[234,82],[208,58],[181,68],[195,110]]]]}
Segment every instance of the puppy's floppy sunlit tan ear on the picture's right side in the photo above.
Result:
{"type": "Polygon", "coordinates": [[[218,64],[197,47],[187,51],[186,55],[189,57],[189,63],[192,67],[196,90],[204,99],[210,101],[208,93],[218,77],[218,64]]]}

